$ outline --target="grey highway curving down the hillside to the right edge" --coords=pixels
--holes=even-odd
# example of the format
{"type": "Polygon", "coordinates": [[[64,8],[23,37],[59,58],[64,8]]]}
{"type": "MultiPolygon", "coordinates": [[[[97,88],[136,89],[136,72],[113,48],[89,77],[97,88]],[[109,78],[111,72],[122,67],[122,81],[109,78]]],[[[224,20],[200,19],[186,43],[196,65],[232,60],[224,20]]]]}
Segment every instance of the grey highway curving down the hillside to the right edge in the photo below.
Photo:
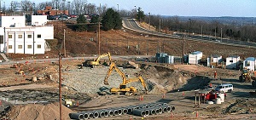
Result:
{"type": "Polygon", "coordinates": [[[218,43],[218,44],[224,44],[224,45],[230,45],[230,46],[237,46],[237,47],[247,47],[256,49],[256,43],[249,43],[239,40],[230,40],[227,38],[220,38],[220,37],[211,37],[206,35],[193,35],[190,34],[190,37],[187,34],[184,34],[183,32],[177,32],[176,34],[166,34],[163,32],[156,32],[156,31],[149,31],[148,29],[145,29],[143,27],[138,26],[138,22],[133,20],[132,18],[123,18],[123,27],[125,29],[131,30],[131,31],[137,31],[142,34],[148,35],[148,36],[157,36],[157,37],[168,37],[168,38],[176,38],[181,39],[183,37],[186,38],[186,40],[191,41],[198,41],[198,42],[204,42],[204,43],[218,43]]]}

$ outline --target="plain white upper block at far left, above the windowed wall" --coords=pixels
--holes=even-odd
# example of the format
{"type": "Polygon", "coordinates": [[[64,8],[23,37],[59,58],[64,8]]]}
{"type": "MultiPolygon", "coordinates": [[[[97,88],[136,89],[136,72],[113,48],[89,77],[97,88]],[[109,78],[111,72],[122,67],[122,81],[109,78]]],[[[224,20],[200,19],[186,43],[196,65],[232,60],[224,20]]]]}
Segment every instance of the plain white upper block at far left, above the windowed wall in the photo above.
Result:
{"type": "Polygon", "coordinates": [[[26,26],[25,16],[0,16],[1,27],[24,27],[26,26]]]}

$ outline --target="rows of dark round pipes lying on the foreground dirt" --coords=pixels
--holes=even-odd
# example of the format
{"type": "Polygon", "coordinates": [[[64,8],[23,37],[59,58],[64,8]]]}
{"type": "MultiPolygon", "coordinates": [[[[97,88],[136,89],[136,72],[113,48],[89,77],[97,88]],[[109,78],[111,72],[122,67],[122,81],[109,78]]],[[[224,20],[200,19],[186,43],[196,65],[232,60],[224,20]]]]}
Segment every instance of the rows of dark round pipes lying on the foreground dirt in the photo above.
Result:
{"type": "Polygon", "coordinates": [[[168,106],[166,103],[163,102],[154,102],[148,104],[141,104],[137,106],[114,107],[95,111],[81,111],[76,113],[69,113],[69,117],[71,119],[77,120],[93,119],[97,117],[113,117],[126,114],[145,117],[149,115],[157,115],[174,110],[174,106],[168,106]]]}

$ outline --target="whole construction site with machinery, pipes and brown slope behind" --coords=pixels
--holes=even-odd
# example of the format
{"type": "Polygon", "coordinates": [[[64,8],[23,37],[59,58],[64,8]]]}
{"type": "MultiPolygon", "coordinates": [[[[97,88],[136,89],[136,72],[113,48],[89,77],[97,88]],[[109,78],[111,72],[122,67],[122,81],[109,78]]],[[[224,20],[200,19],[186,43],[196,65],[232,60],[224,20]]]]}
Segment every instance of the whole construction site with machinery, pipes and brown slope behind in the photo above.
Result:
{"type": "MultiPolygon", "coordinates": [[[[186,47],[181,49],[181,39],[119,30],[101,31],[98,54],[96,40],[90,39],[96,33],[71,31],[63,23],[54,26],[55,36],[62,36],[63,27],[67,30],[66,57],[58,60],[58,51],[52,49],[46,54],[9,54],[11,61],[1,64],[0,119],[58,120],[60,108],[65,120],[256,117],[255,77],[250,71],[155,59],[159,52],[179,56],[195,50],[205,56],[246,58],[255,49],[193,41],[183,41],[186,47]],[[225,84],[232,89],[218,89],[225,84]]],[[[49,42],[52,48],[57,43],[49,42]]]]}

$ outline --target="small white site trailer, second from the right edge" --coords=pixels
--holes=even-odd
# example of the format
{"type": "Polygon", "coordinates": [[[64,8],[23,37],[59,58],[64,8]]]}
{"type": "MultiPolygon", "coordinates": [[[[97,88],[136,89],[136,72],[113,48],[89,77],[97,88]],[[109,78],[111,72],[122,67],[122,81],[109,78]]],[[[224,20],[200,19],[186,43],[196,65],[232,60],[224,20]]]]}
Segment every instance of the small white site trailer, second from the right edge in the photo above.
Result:
{"type": "Polygon", "coordinates": [[[232,55],[226,58],[226,68],[227,69],[237,69],[239,68],[240,56],[232,55]]]}

